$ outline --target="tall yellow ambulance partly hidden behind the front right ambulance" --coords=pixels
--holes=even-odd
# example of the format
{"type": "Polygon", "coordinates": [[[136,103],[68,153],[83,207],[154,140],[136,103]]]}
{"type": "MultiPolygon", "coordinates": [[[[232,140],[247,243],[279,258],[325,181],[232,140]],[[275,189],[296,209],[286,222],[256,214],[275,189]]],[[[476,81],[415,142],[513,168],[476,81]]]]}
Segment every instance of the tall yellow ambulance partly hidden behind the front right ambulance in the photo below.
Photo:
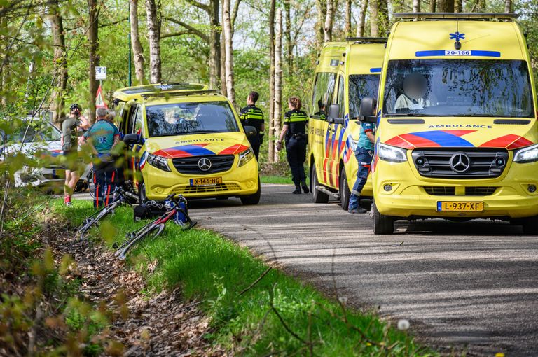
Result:
{"type": "MultiPolygon", "coordinates": [[[[326,203],[332,196],[347,210],[350,188],[357,179],[353,151],[359,140],[359,107],[363,97],[378,94],[386,42],[386,38],[347,38],[326,43],[319,54],[307,155],[316,203],[326,203]]],[[[371,180],[362,194],[371,197],[371,180]]]]}

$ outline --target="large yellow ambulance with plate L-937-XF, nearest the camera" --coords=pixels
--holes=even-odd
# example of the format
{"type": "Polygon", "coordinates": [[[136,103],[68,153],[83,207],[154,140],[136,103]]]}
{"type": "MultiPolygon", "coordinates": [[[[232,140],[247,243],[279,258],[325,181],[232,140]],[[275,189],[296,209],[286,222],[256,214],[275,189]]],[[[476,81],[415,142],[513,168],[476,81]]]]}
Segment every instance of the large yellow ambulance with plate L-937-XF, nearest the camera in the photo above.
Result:
{"type": "Polygon", "coordinates": [[[374,233],[414,218],[538,233],[536,92],[517,15],[395,16],[377,106],[361,102],[361,118],[378,123],[374,233]]]}

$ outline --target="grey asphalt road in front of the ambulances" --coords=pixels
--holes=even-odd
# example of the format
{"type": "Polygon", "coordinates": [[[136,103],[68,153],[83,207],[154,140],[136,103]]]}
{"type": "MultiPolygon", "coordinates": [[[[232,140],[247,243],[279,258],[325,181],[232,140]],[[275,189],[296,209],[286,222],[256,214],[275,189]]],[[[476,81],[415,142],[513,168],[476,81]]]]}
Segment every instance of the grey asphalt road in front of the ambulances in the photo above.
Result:
{"type": "Polygon", "coordinates": [[[293,274],[389,318],[421,341],[468,356],[538,356],[538,237],[490,221],[397,224],[374,236],[368,215],[264,185],[257,206],[191,201],[191,216],[293,274]],[[403,243],[402,243],[403,242],[403,243]]]}

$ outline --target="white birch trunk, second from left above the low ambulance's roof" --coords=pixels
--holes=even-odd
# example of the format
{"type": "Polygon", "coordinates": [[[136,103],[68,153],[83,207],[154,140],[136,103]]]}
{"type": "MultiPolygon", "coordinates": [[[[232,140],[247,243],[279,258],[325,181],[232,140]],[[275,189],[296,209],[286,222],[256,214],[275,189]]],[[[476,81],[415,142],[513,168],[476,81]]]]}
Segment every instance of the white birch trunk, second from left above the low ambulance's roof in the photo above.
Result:
{"type": "Polygon", "coordinates": [[[160,16],[155,0],[146,0],[146,19],[149,40],[149,81],[160,83],[160,16]]]}

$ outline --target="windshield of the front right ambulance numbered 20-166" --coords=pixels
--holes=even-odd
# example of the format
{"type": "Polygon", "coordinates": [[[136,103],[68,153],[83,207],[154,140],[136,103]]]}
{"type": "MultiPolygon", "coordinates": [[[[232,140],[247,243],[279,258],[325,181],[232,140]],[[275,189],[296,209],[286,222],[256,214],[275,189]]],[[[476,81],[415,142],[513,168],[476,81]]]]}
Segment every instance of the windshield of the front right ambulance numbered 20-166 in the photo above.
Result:
{"type": "Polygon", "coordinates": [[[527,62],[406,59],[387,68],[385,116],[534,115],[527,62]]]}

